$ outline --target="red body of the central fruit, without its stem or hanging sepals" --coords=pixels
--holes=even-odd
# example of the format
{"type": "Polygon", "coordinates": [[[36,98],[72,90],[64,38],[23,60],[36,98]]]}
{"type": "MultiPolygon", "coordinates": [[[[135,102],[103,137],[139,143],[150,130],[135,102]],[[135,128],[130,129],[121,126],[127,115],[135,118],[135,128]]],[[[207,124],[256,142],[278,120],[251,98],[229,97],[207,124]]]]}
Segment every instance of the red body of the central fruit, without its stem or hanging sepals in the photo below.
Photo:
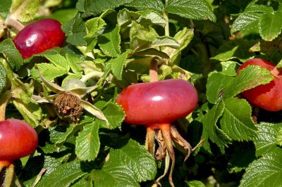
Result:
{"type": "Polygon", "coordinates": [[[183,79],[139,83],[123,89],[116,99],[130,124],[171,123],[192,112],[197,91],[183,79]]]}

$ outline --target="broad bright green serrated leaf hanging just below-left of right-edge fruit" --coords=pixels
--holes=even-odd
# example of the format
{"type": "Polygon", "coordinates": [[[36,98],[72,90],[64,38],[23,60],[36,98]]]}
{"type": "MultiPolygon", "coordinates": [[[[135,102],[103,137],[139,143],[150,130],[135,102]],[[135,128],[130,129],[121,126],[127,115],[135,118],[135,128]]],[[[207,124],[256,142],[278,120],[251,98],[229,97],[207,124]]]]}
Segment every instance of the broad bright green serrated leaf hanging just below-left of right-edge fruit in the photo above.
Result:
{"type": "Polygon", "coordinates": [[[223,103],[221,129],[236,141],[250,141],[257,137],[258,129],[252,121],[250,104],[238,98],[228,98],[223,103]]]}

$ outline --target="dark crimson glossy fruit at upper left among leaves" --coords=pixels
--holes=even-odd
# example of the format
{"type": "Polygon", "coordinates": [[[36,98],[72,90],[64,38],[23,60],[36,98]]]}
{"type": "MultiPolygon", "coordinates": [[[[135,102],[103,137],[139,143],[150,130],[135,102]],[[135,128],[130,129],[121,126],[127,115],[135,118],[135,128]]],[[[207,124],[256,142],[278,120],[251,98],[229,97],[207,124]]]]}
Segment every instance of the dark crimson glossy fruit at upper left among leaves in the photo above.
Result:
{"type": "Polygon", "coordinates": [[[62,46],[65,38],[61,23],[47,18],[27,25],[16,35],[13,42],[25,59],[55,46],[62,46]]]}

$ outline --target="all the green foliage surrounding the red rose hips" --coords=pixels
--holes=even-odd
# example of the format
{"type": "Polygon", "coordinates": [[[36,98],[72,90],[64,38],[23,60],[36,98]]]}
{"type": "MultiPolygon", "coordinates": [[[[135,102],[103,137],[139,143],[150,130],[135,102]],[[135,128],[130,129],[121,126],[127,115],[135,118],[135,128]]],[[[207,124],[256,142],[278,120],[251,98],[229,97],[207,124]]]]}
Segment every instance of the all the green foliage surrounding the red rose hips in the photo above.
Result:
{"type": "MultiPolygon", "coordinates": [[[[159,80],[185,79],[198,92],[195,111],[173,122],[192,148],[202,140],[186,162],[175,148],[176,186],[281,186],[281,111],[241,95],[274,76],[257,65],[237,73],[252,58],[282,67],[278,1],[0,0],[0,7],[0,93],[11,91],[0,96],[0,110],[39,135],[35,154],[18,161],[23,185],[156,185],[169,163],[148,153],[146,127],[125,123],[115,101],[126,86],[149,82],[157,60],[159,80]],[[62,20],[66,42],[23,60],[10,18],[62,20]],[[62,89],[68,79],[86,88],[62,89]],[[54,104],[66,92],[80,99],[77,121],[54,104]]],[[[161,184],[169,185],[168,174],[161,184]]]]}

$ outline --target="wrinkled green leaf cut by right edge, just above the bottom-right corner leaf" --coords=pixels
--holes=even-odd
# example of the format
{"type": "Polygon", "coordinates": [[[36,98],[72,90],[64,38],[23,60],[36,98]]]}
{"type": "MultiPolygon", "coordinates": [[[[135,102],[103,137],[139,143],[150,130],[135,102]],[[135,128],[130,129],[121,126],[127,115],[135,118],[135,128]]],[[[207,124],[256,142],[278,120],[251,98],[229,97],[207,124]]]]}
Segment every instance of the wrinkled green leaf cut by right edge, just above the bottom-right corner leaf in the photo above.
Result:
{"type": "Polygon", "coordinates": [[[282,123],[261,122],[258,128],[259,134],[254,141],[257,157],[281,149],[277,146],[277,135],[282,128],[282,123]]]}

